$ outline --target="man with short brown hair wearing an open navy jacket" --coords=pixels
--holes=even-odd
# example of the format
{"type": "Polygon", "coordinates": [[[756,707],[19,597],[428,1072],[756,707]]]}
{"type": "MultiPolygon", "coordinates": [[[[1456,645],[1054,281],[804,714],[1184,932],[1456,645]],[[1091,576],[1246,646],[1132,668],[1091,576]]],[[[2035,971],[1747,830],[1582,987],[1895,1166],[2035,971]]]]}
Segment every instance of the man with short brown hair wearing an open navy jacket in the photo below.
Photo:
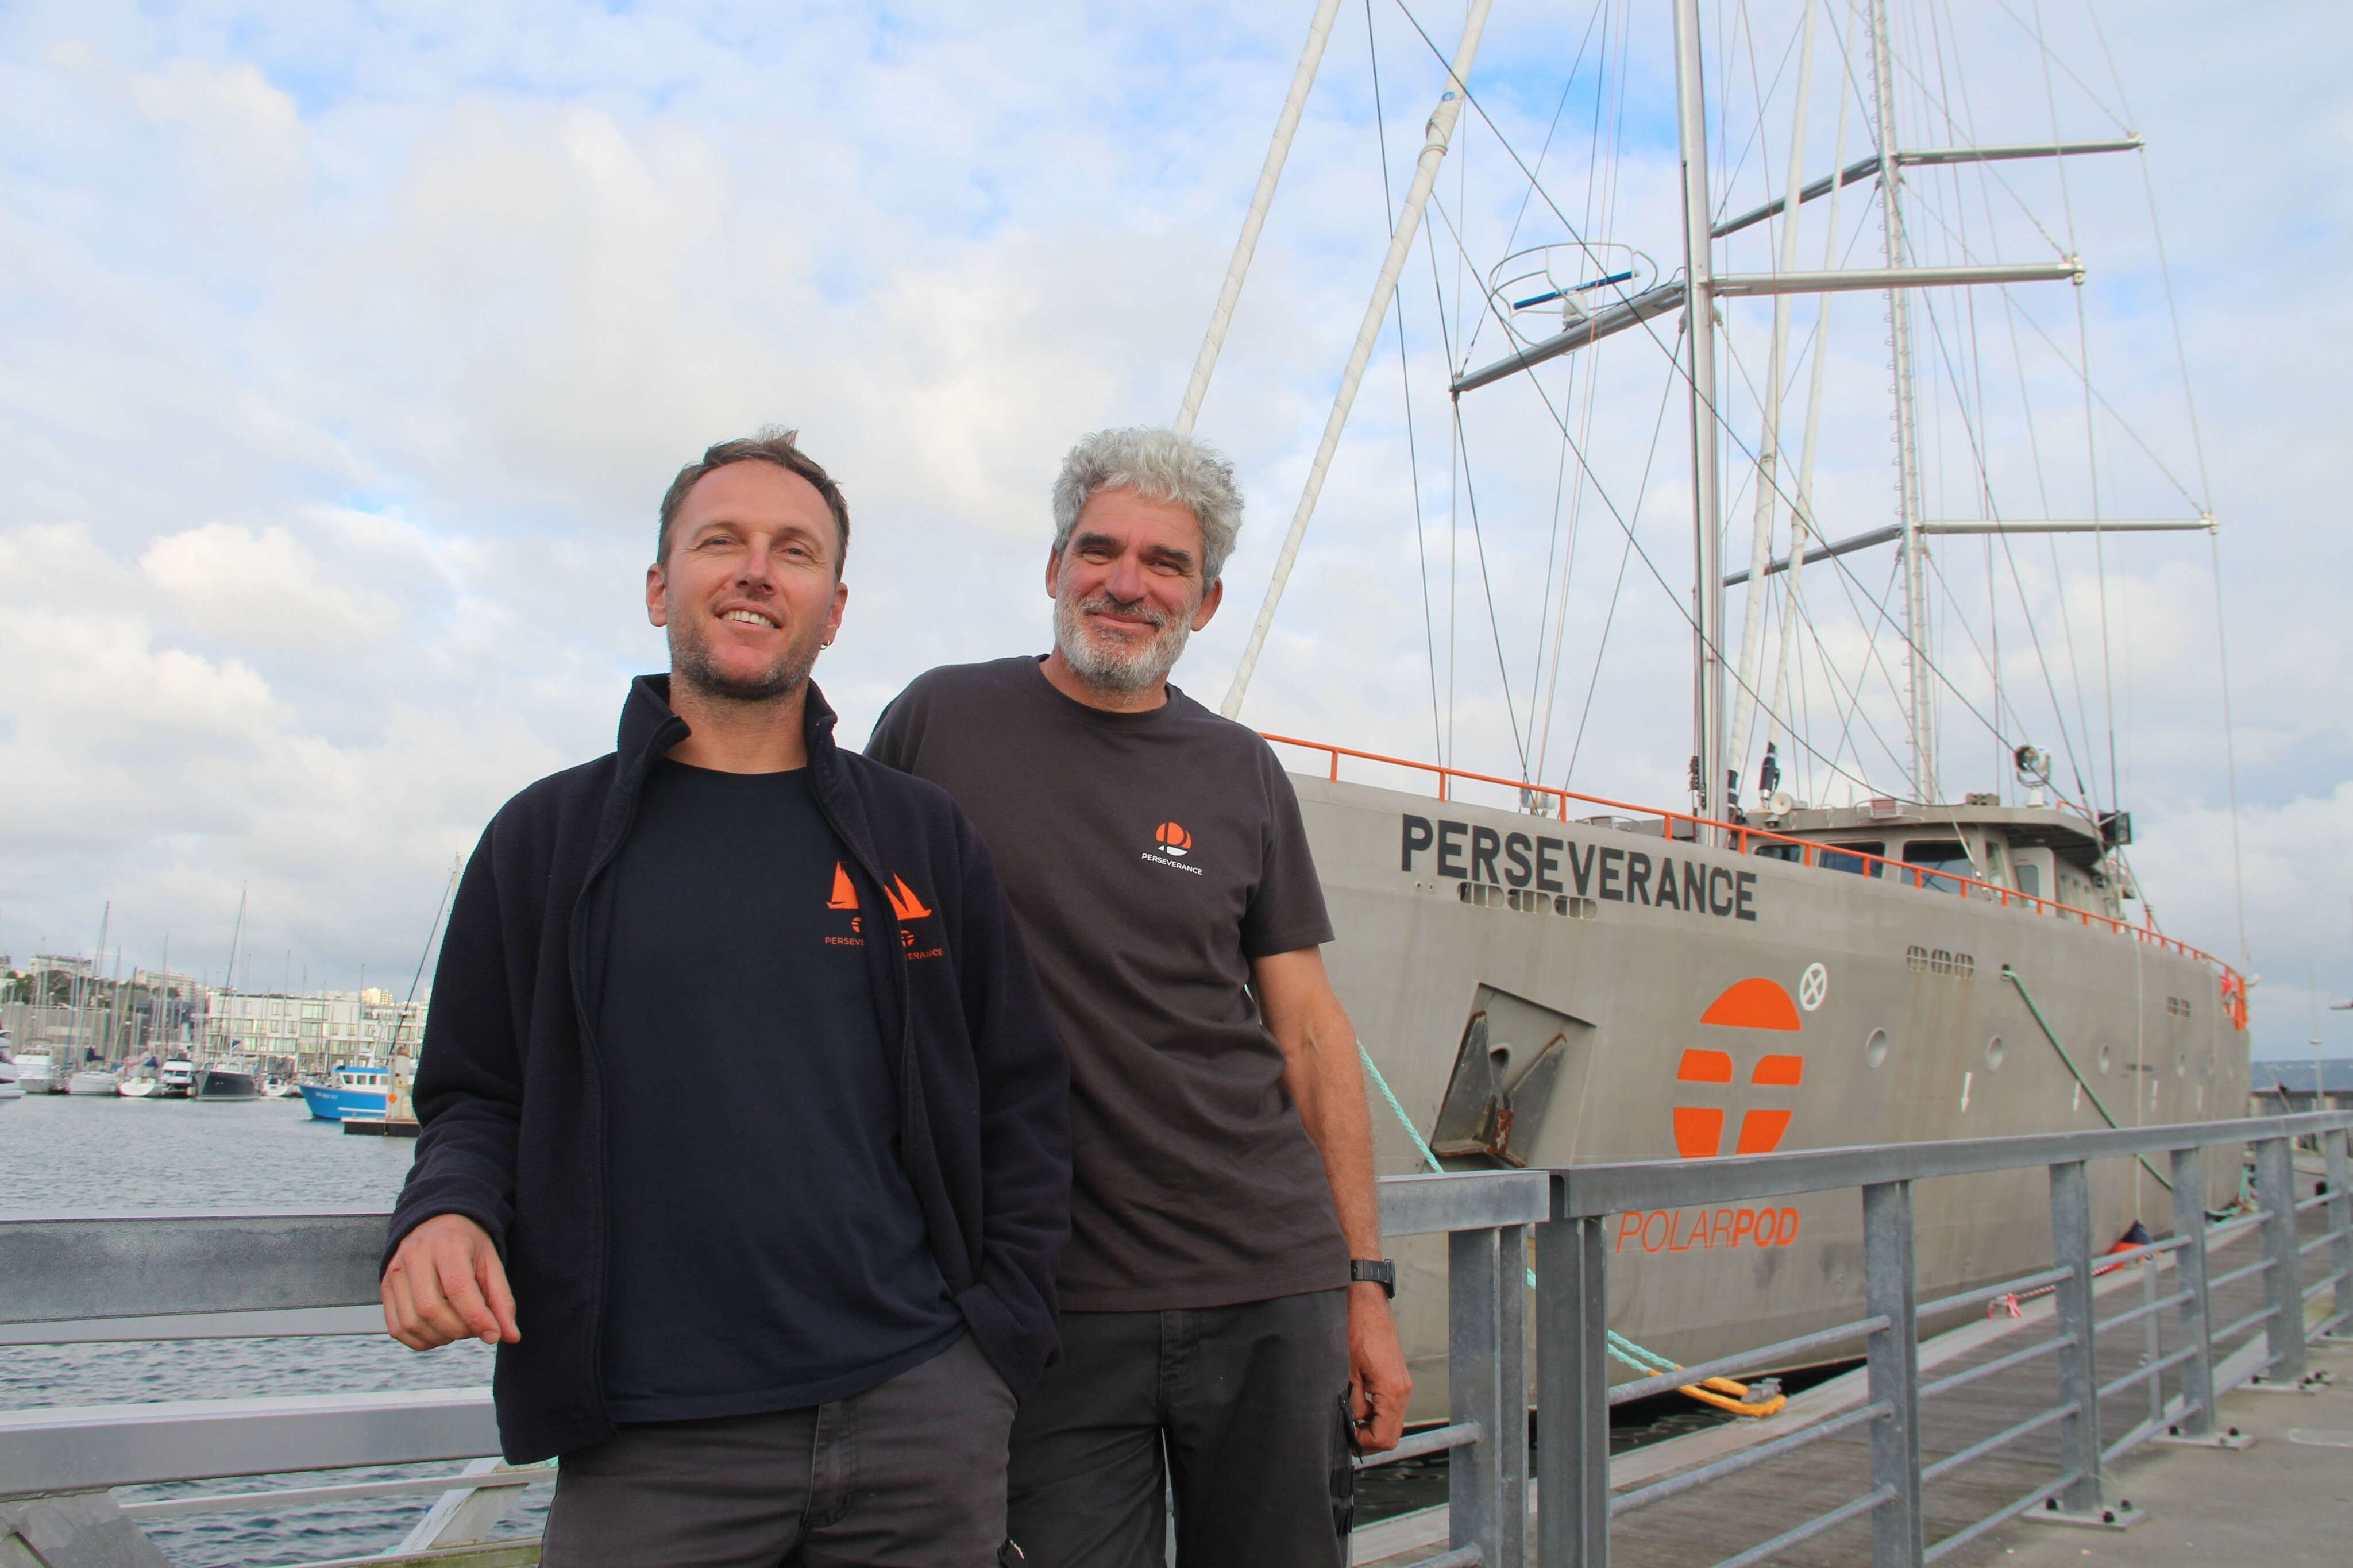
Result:
{"type": "Polygon", "coordinates": [[[1005,1540],[1064,1063],[979,835],[833,743],[847,545],[788,430],[680,470],[645,574],[671,675],[499,811],[452,905],[384,1316],[499,1345],[506,1458],[562,1458],[551,1568],[1005,1540]]]}

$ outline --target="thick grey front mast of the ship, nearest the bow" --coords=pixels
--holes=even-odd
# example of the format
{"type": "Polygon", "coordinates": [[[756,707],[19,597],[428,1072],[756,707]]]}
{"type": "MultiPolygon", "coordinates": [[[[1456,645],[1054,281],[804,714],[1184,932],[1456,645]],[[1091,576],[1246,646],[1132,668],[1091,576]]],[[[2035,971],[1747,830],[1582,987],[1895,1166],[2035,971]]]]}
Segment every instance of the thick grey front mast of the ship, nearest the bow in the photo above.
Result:
{"type": "MultiPolygon", "coordinates": [[[[1725,795],[1725,569],[1715,473],[1715,244],[1708,223],[1708,110],[1701,101],[1699,0],[1675,0],[1675,134],[1682,143],[1682,310],[1692,346],[1692,724],[1694,811],[1725,795]]],[[[1713,842],[1713,832],[1699,830],[1713,842]]]]}

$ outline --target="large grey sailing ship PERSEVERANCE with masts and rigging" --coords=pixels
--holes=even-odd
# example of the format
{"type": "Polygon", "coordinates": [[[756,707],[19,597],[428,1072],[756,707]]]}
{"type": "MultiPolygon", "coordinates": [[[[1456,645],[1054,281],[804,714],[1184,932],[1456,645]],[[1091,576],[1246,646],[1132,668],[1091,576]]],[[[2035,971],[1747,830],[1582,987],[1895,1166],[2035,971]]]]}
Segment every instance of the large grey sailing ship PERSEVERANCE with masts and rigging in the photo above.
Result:
{"type": "MultiPolygon", "coordinates": [[[[2115,494],[2113,480],[2108,489],[2080,491],[2092,501],[2080,517],[2052,515],[2045,465],[2057,456],[2057,437],[2047,433],[2054,451],[2035,447],[2028,477],[2005,470],[2002,442],[2017,444],[2021,433],[2033,442],[2049,409],[2031,407],[2031,374],[2021,367],[2014,402],[2026,407],[2007,425],[1986,411],[1993,381],[1955,369],[1962,350],[1974,348],[1977,317],[1969,341],[1960,341],[1958,306],[1944,301],[1974,299],[1988,320],[2007,324],[2014,346],[2017,322],[2033,327],[2035,289],[2075,287],[2080,310],[2085,263],[2049,228],[2024,230],[2026,249],[2040,252],[2031,261],[2002,259],[2005,233],[1991,216],[1967,233],[1953,212],[1986,186],[1955,183],[1951,190],[1960,195],[1946,212],[1927,200],[1937,190],[1913,186],[1920,169],[2002,181],[2019,165],[2129,158],[2141,139],[2122,125],[2108,136],[2061,136],[2057,108],[2047,127],[1953,136],[1965,115],[1955,108],[1951,61],[1939,56],[1937,73],[1922,73],[1897,56],[1899,38],[1960,49],[1962,26],[1944,7],[1892,16],[1889,0],[1795,0],[1772,19],[1751,19],[1746,7],[1739,14],[1751,73],[1762,75],[1755,66],[1762,61],[1777,82],[1772,92],[1758,87],[1751,108],[1762,115],[1772,99],[1791,110],[1793,129],[1777,148],[1786,160],[1767,169],[1760,155],[1744,155],[1732,176],[1715,179],[1711,153],[1741,143],[1722,125],[1727,73],[1706,68],[1711,35],[1697,0],[1675,0],[1671,9],[1682,226],[1675,235],[1640,235],[1640,244],[1680,249],[1680,268],[1661,275],[1638,244],[1579,233],[1529,160],[1506,146],[1529,176],[1534,200],[1522,200],[1522,212],[1534,207],[1558,219],[1562,237],[1473,266],[1485,299],[1457,324],[1471,317],[1499,327],[1508,353],[1480,364],[1464,334],[1449,341],[1452,409],[1442,418],[1459,421],[1480,395],[1492,397],[1482,388],[1537,381],[1565,444],[1562,473],[1574,456],[1579,484],[1591,480],[1595,503],[1624,524],[1642,496],[1619,487],[1612,498],[1588,451],[1574,447],[1574,433],[1586,428],[1581,402],[1605,395],[1598,371],[1581,367],[1607,339],[1621,339],[1649,386],[1666,378],[1689,430],[1687,470],[1673,477],[1673,487],[1689,491],[1692,536],[1689,599],[1675,607],[1694,646],[1689,795],[1671,809],[1595,799],[1534,778],[1525,748],[1518,769],[1475,771],[1452,759],[1398,759],[1271,736],[1294,769],[1332,907],[1337,940],[1327,961],[1377,1070],[1377,1100],[1395,1112],[1377,1110],[1381,1168],[1699,1159],[2240,1114],[2245,983],[2228,964],[2155,929],[2129,870],[2132,827],[2115,804],[2113,778],[2099,799],[2099,769],[2085,776],[2089,719],[2068,731],[2054,689],[2057,717],[2042,722],[2061,729],[2064,745],[2028,743],[2024,701],[2000,689],[2000,658],[1988,661],[1988,703],[1941,665],[1937,639],[1937,616],[1951,623],[1955,609],[1934,604],[1939,583],[1946,590],[1951,583],[1929,541],[1974,538],[1988,574],[2002,562],[2014,574],[2019,536],[2092,534],[2094,550],[2106,550],[2111,534],[2212,534],[2200,503],[2179,505],[2177,515],[2153,515],[2155,508],[2104,515],[2099,501],[2115,494]],[[1786,42],[1769,38],[1774,28],[1786,28],[1786,42]],[[1791,75],[1795,87],[1784,85],[1791,75]],[[1899,103],[1906,94],[1915,99],[1908,110],[1899,103]],[[1812,122],[1819,158],[1821,127],[1833,120],[1831,172],[1817,174],[1807,167],[1807,129],[1812,122]],[[1929,129],[1946,136],[1925,136],[1929,129]],[[2045,129],[2047,136],[2033,139],[2045,129]],[[1849,200],[1842,221],[1838,205],[1849,186],[1868,202],[1849,200]],[[1741,190],[1762,202],[1732,216],[1741,190]],[[1800,266],[1800,240],[1807,254],[1824,256],[1819,268],[1800,266]],[[1852,261],[1864,240],[1875,240],[1875,266],[1852,261]],[[1732,268],[1758,252],[1758,270],[1732,268]],[[1814,496],[1828,301],[1852,292],[1882,301],[1880,320],[1866,327],[1878,339],[1873,348],[1885,346],[1880,388],[1894,418],[1887,503],[1814,496]],[[1814,301],[1805,343],[1793,334],[1793,301],[1814,301]],[[1934,339],[1932,400],[1922,397],[1922,317],[1934,339]],[[1741,346],[1762,360],[1762,374],[1748,364],[1737,364],[1737,378],[1725,374],[1722,360],[1741,346]],[[1784,402],[1795,402],[1800,374],[1812,390],[1795,437],[1784,430],[1791,423],[1784,402]],[[1748,386],[1746,402],[1734,397],[1737,381],[1748,386]],[[1951,473],[1929,475],[1944,461],[1937,454],[1955,449],[1962,456],[1946,463],[1951,473]],[[1753,534],[1741,571],[1722,559],[1732,522],[1727,468],[1753,508],[1741,520],[1741,531],[1753,534]],[[1967,498],[1960,515],[1955,491],[1967,498]],[[1932,508],[1932,498],[1941,505],[1932,508]],[[1845,536],[1831,538],[1826,522],[1845,536]],[[1897,550],[1880,592],[1852,571],[1873,545],[1897,550]],[[1861,646],[1866,665],[1878,665],[1882,712],[1901,722],[1904,741],[1885,748],[1878,778],[1847,738],[1809,738],[1800,712],[1809,646],[1814,677],[1833,689],[1828,705],[1845,729],[1871,708],[1864,693],[1871,670],[1840,677],[1831,668],[1821,616],[1807,604],[1805,588],[1824,578],[1892,630],[1892,658],[1878,632],[1847,639],[1861,646]],[[1732,590],[1744,599],[1737,639],[1727,632],[1732,590]],[[1984,788],[1958,795],[1946,788],[1937,759],[1939,701],[1965,708],[1991,731],[2000,750],[1988,745],[1986,755],[2000,755],[2012,778],[1972,780],[1984,788]],[[1784,788],[1784,757],[1793,773],[1812,778],[1812,792],[1845,792],[1845,804],[1798,799],[1784,788]],[[1755,790],[1744,804],[1746,778],[1755,778],[1755,790]]],[[[1179,428],[1191,430],[1200,411],[1337,12],[1337,0],[1325,0],[1311,24],[1179,428]]],[[[1442,96],[1414,176],[1391,212],[1374,299],[1226,696],[1228,715],[1242,715],[1438,169],[1466,103],[1475,106],[1473,66],[1487,16],[1489,2],[1471,0],[1452,56],[1412,21],[1447,66],[1442,96]]],[[[1595,7],[1602,33],[1595,59],[1607,61],[1609,28],[1664,31],[1666,21],[1666,7],[1605,0],[1595,7]]],[[[1727,38],[1713,45],[1732,49],[1727,38]]],[[[1621,68],[1621,75],[1640,73],[1621,68]]],[[[1478,113],[1494,129],[1485,108],[1478,113]]],[[[1755,136],[1746,141],[1762,146],[1755,136]]],[[[1605,153],[1598,148],[1595,158],[1605,153]]],[[[2002,190],[2014,195],[2007,183],[2002,190]]],[[[1475,242],[1466,230],[1464,214],[1447,219],[1454,244],[1468,252],[1475,242]]],[[[1398,346],[1402,357],[1402,317],[1398,346]]],[[[2068,360],[2061,350],[2059,362],[2082,378],[2080,444],[2089,463],[2097,393],[2087,355],[2068,360]]],[[[1649,480],[1647,458],[1642,470],[1649,480]]],[[[1419,505],[1417,496],[1417,512],[1419,505]]],[[[1489,505],[1489,527],[1497,510],[1489,505]]],[[[1558,501],[1553,517],[1558,527],[1558,501]]],[[[1631,527],[1626,541],[1635,543],[1631,527]]],[[[1560,621],[1569,614],[1565,574],[1562,567],[1558,590],[1551,576],[1544,588],[1546,616],[1560,621]]],[[[1819,588],[1821,597],[1831,597],[1831,585],[1819,588]]],[[[1494,588],[1487,592],[1492,604],[1494,588]]],[[[2019,607],[2007,628],[2014,644],[2019,621],[2033,618],[2024,588],[2019,607]]],[[[1544,625],[1539,618],[1539,649],[1544,625]]],[[[1974,635],[1948,632],[1946,644],[1998,639],[2002,630],[1995,618],[1974,635]]],[[[2035,628],[2026,625],[2026,635],[2040,656],[2035,628]]],[[[1558,682],[1558,632],[1553,646],[1558,682]]],[[[1497,635],[1499,661],[1501,649],[1497,635]]],[[[1431,658],[1435,665],[1435,651],[1431,658]]],[[[1534,729],[1534,705],[1527,717],[1534,729]]],[[[1513,736],[1520,738],[1518,719],[1513,736]]],[[[2169,1199],[2155,1180],[2120,1164],[2097,1171],[2097,1225],[2120,1237],[2139,1218],[2167,1215],[2169,1199]]],[[[2207,1201],[2219,1206],[2235,1197],[2238,1173],[2217,1168],[2209,1182],[2207,1201]]],[[[1932,1182],[1915,1204],[1925,1298],[2014,1276],[2047,1255],[2047,1194],[2033,1173],[1932,1182]]],[[[1442,1251],[1407,1248],[1402,1265],[1417,1415],[1438,1415],[1442,1251]]],[[[1614,1326],[1675,1363],[1701,1361],[1852,1319],[1861,1298],[1859,1206],[1849,1194],[1819,1194],[1741,1211],[1628,1213],[1612,1227],[1612,1269],[1614,1326]]],[[[1624,1375],[1642,1371],[1628,1363],[1624,1375]]]]}

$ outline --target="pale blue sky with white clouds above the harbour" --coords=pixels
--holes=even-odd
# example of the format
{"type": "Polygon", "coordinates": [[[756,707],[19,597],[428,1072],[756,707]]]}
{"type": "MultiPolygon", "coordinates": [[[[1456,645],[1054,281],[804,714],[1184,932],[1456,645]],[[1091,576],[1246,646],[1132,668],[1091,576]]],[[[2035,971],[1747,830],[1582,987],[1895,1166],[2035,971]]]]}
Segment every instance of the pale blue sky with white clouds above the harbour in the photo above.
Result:
{"type": "MultiPolygon", "coordinates": [[[[252,985],[402,990],[499,802],[607,750],[626,679],[664,668],[642,614],[654,503],[758,425],[798,425],[849,494],[849,616],[819,665],[845,738],[934,663],[1045,651],[1059,456],[1174,414],[1311,9],[0,7],[0,952],[87,952],[104,914],[125,969],[169,940],[172,969],[216,980],[242,898],[252,985]]],[[[1562,266],[1680,266],[1654,9],[1494,9],[1433,242],[1384,317],[1245,722],[1682,804],[1673,317],[1593,369],[1466,397],[1459,442],[1442,393],[1449,364],[1508,341],[1482,301],[1515,247],[1579,233],[1595,249],[1562,266]],[[1537,400],[1572,386],[1588,473],[1537,400]]],[[[1784,176],[1800,12],[1704,9],[1720,122],[1767,127],[1725,132],[1722,212],[1784,176]]],[[[1929,510],[2219,520],[2212,543],[2038,541],[1998,571],[1981,545],[1934,555],[1944,792],[2014,792],[2002,748],[2054,748],[2061,785],[2134,813],[2160,924],[2233,961],[2245,943],[2257,1053],[2308,1053],[2315,994],[2353,999],[2353,374],[2334,348],[2353,336],[2334,68],[2353,16],[2252,5],[2214,28],[2207,7],[2045,0],[2045,68],[2035,7],[1899,12],[1925,61],[1911,134],[2148,141],[2071,160],[2064,183],[2005,165],[1995,200],[1939,205],[1920,176],[1922,214],[1951,219],[1922,216],[1922,259],[2087,266],[2080,315],[2066,284],[2007,317],[1915,315],[1929,510]],[[1984,388],[1948,369],[1962,334],[2007,334],[1988,364],[2033,414],[1967,425],[1984,388]],[[2111,400],[2089,418],[2068,355],[2111,400]]],[[[1226,609],[1176,670],[1212,703],[1442,87],[1417,28],[1452,47],[1459,0],[1341,7],[1202,409],[1249,498],[1226,609]]],[[[1819,71],[1807,167],[1838,150],[1819,71]]],[[[1849,125],[1845,158],[1861,146],[1849,125]]],[[[1871,186],[1840,200],[1838,228],[1807,209],[1800,249],[1875,263],[1871,186]]],[[[1774,244],[1760,228],[1722,261],[1762,270],[1774,244]]],[[[1734,564],[1765,324],[1769,306],[1727,303],[1734,564]]],[[[1882,336],[1875,296],[1821,329],[1828,534],[1892,505],[1882,336]]],[[[1809,364],[1784,367],[1793,409],[1809,364]]],[[[1793,773],[1817,799],[1906,766],[1871,675],[1889,555],[1845,559],[1807,578],[1821,679],[1861,672],[1845,729],[1824,726],[1835,691],[1807,698],[1819,755],[1793,773]],[[1835,609],[1857,592],[1864,611],[1835,609]]],[[[1737,592],[1734,637],[1741,621],[1737,592]]],[[[2353,1056],[2353,1013],[2318,1018],[2353,1056]]]]}

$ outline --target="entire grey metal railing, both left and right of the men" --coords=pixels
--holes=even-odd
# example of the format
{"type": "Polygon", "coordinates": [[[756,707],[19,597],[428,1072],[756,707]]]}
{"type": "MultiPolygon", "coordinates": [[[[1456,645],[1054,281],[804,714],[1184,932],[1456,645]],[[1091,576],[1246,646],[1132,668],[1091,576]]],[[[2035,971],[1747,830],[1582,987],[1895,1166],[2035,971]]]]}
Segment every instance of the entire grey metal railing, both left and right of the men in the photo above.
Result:
{"type": "MultiPolygon", "coordinates": [[[[1445,1549],[1417,1568],[1518,1568],[1527,1563],[1529,1535],[1541,1568],[1607,1568],[1612,1521],[1859,1429],[1871,1434],[1871,1476],[1859,1495],[1718,1568],[1765,1561],[1864,1516],[1871,1519],[1875,1568],[1920,1568],[2028,1509],[2073,1519],[2113,1514],[2104,1467],[2120,1453],[2153,1436],[2221,1441],[2214,1436],[2219,1394],[2249,1380],[2294,1387],[2306,1378],[2308,1340],[2353,1342],[2341,1333],[2353,1324],[2348,1133],[2353,1112],[2313,1112],[2099,1133],[1386,1178],[1381,1220],[1391,1237],[1447,1234],[1452,1403],[1442,1427],[1417,1432],[1398,1453],[1367,1462],[1449,1455],[1445,1549]],[[2325,1190],[2304,1199],[2294,1187],[2294,1138],[2318,1138],[2327,1159],[2325,1190]],[[2228,1157],[2235,1171],[2240,1150],[2254,1154],[2259,1208],[2212,1222],[2205,1211],[2207,1161],[2228,1157]],[[2101,1251],[2092,1234],[2087,1166],[2153,1157],[2169,1164],[2172,1237],[2132,1251],[2101,1251]],[[1913,1182],[2035,1166],[2049,1173],[2049,1265],[1944,1300],[1918,1300],[1913,1182]],[[1614,1220],[1840,1190],[1854,1190],[1861,1204],[1861,1316],[1612,1385],[1614,1220]],[[2299,1237],[2299,1225],[2315,1211],[2322,1218],[2318,1234],[2299,1237]],[[1525,1286],[1529,1241],[1534,1295],[1525,1286]],[[2245,1241],[2259,1241],[2261,1255],[2214,1269],[2226,1248],[2245,1241]],[[2325,1255],[2325,1272],[2306,1265],[2315,1253],[2325,1255]],[[2160,1260],[2172,1267],[2165,1293],[2158,1291],[2160,1260]],[[2144,1300],[2099,1316],[2104,1288],[2097,1276],[2127,1265],[2144,1265],[2144,1300]],[[2249,1279],[2261,1279],[2261,1307],[2212,1326],[2214,1293],[2249,1279]],[[1922,1324],[2042,1288],[2057,1295],[2049,1338],[1922,1382],[1922,1324]],[[2329,1300],[2308,1326],[2306,1305],[2322,1295],[2329,1300]],[[2174,1328],[2169,1349],[2158,1338],[2167,1321],[2174,1328]],[[2099,1335],[2125,1328],[2144,1335],[2139,1368],[2101,1382],[2099,1335]],[[1840,1349],[1859,1352],[1868,1368],[1864,1396],[1852,1408],[1786,1427],[1777,1418],[1737,1453],[1628,1490],[1612,1488],[1612,1408],[1704,1378],[1821,1361],[1840,1349]],[[1537,1406],[1546,1413],[1534,1486],[1525,1420],[1529,1352],[1537,1406]],[[2019,1410],[2014,1425],[1984,1441],[1922,1458],[1922,1406],[2042,1359],[2054,1366],[2057,1399],[2019,1410]],[[2104,1443],[2101,1403],[2120,1396],[2146,1401],[2146,1415],[2104,1443]],[[1934,1542],[1925,1540],[1925,1486],[2052,1427],[2061,1460],[2040,1486],[1934,1542]]],[[[0,1220],[0,1345],[381,1333],[374,1300],[384,1225],[381,1213],[0,1220]]],[[[26,1547],[31,1561],[75,1561],[68,1549],[106,1549],[111,1556],[89,1561],[162,1568],[162,1554],[139,1528],[141,1519],[438,1493],[395,1552],[336,1561],[532,1563],[536,1542],[482,1537],[525,1486],[544,1483],[553,1472],[508,1469],[489,1458],[494,1453],[496,1425],[489,1389],[482,1387],[9,1410],[0,1413],[0,1559],[12,1549],[14,1533],[33,1542],[26,1547]],[[452,1460],[471,1462],[464,1472],[400,1481],[153,1502],[111,1497],[111,1488],[155,1481],[452,1460]],[[452,1552],[468,1542],[478,1544],[452,1552]]],[[[1433,1533],[1431,1544],[1438,1537],[1433,1533]]]]}

